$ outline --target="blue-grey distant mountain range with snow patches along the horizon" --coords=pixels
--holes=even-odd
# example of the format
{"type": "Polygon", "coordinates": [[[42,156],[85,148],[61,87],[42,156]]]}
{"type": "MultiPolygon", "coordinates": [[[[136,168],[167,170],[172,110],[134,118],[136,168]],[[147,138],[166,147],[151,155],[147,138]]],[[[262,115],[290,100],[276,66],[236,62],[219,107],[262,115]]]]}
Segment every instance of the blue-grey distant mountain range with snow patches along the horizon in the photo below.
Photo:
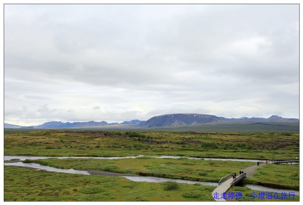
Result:
{"type": "Polygon", "coordinates": [[[61,121],[51,121],[45,122],[42,125],[37,126],[28,126],[22,127],[20,125],[11,125],[4,123],[4,128],[85,128],[85,127],[98,127],[105,125],[138,125],[144,128],[152,128],[152,127],[178,127],[178,126],[186,126],[186,125],[198,125],[198,124],[206,124],[211,122],[220,122],[220,121],[262,121],[262,122],[281,122],[281,121],[299,121],[296,118],[281,118],[277,115],[272,115],[269,118],[224,118],[217,117],[215,115],[209,114],[164,114],[150,118],[147,121],[141,120],[132,120],[132,121],[124,121],[122,123],[107,123],[105,121],[95,122],[61,122],[61,121]]]}

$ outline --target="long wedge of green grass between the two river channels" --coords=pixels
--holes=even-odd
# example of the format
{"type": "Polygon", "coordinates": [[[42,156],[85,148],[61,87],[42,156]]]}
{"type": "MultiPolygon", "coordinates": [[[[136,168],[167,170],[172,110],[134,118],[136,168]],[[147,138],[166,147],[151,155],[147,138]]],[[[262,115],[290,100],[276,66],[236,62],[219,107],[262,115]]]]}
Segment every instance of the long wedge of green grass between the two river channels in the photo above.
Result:
{"type": "Polygon", "coordinates": [[[222,177],[255,165],[255,162],[201,160],[201,159],[155,159],[138,157],[135,159],[38,159],[27,160],[60,169],[101,170],[115,173],[159,176],[172,179],[185,179],[218,182],[222,177]]]}

